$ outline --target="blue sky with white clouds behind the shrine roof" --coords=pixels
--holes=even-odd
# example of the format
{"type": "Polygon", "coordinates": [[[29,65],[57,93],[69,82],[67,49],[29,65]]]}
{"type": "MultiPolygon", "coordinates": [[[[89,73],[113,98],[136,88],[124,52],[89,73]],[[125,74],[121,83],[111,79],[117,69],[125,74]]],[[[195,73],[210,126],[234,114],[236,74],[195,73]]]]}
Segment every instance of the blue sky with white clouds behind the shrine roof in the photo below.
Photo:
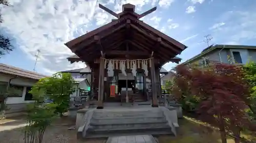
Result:
{"type": "MultiPolygon", "coordinates": [[[[50,75],[56,71],[83,68],[70,64],[72,52],[64,43],[106,24],[114,17],[98,4],[115,12],[122,4],[133,4],[142,13],[157,6],[157,11],[142,20],[188,46],[182,62],[200,53],[207,44],[200,41],[210,34],[210,44],[256,45],[256,1],[253,0],[9,0],[3,7],[0,32],[12,40],[15,50],[2,56],[0,63],[50,75]]],[[[169,70],[176,64],[167,63],[169,70]]]]}

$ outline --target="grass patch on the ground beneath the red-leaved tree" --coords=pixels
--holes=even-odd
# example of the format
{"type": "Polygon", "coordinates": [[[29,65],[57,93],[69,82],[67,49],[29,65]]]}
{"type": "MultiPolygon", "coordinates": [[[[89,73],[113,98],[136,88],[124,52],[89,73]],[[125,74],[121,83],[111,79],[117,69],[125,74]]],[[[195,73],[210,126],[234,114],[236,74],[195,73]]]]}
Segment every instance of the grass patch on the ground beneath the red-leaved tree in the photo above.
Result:
{"type": "MultiPolygon", "coordinates": [[[[220,133],[208,127],[202,122],[193,118],[184,117],[179,120],[180,127],[177,129],[177,136],[159,136],[159,143],[218,143],[221,142],[220,133]]],[[[251,139],[250,135],[243,135],[251,139]]],[[[255,138],[254,138],[255,139],[255,138]]],[[[227,138],[228,143],[233,143],[231,137],[227,138]]]]}

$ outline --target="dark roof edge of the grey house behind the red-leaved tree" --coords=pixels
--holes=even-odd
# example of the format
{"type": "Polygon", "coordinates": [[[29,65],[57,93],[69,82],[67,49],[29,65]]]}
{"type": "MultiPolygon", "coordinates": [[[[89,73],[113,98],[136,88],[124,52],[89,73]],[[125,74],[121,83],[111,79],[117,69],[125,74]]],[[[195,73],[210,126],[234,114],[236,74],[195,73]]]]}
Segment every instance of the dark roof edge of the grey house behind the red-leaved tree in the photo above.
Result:
{"type": "Polygon", "coordinates": [[[209,47],[205,48],[201,53],[195,55],[193,58],[188,59],[187,61],[181,63],[181,64],[187,64],[190,62],[193,62],[194,60],[197,60],[199,58],[202,58],[205,54],[215,50],[215,49],[256,49],[256,46],[248,46],[248,45],[210,45],[209,47]]]}

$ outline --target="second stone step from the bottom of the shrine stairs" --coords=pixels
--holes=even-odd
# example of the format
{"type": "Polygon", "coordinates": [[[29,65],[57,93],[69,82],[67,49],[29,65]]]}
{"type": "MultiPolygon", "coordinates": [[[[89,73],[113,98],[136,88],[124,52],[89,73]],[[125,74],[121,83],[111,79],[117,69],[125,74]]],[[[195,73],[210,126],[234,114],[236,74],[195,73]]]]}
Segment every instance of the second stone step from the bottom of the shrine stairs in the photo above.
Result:
{"type": "Polygon", "coordinates": [[[130,124],[105,124],[105,125],[91,125],[89,129],[94,131],[101,130],[126,130],[126,129],[152,129],[152,128],[166,128],[169,127],[167,121],[160,123],[130,123],[130,124]]]}

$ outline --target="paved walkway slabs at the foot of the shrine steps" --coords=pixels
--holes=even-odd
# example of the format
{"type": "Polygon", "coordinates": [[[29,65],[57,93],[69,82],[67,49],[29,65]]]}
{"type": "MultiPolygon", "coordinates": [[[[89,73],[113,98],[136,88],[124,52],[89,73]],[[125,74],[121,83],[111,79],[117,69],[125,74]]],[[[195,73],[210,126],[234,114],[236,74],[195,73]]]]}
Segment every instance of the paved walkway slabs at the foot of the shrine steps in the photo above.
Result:
{"type": "Polygon", "coordinates": [[[106,143],[157,143],[152,135],[129,135],[109,137],[106,143]]]}

